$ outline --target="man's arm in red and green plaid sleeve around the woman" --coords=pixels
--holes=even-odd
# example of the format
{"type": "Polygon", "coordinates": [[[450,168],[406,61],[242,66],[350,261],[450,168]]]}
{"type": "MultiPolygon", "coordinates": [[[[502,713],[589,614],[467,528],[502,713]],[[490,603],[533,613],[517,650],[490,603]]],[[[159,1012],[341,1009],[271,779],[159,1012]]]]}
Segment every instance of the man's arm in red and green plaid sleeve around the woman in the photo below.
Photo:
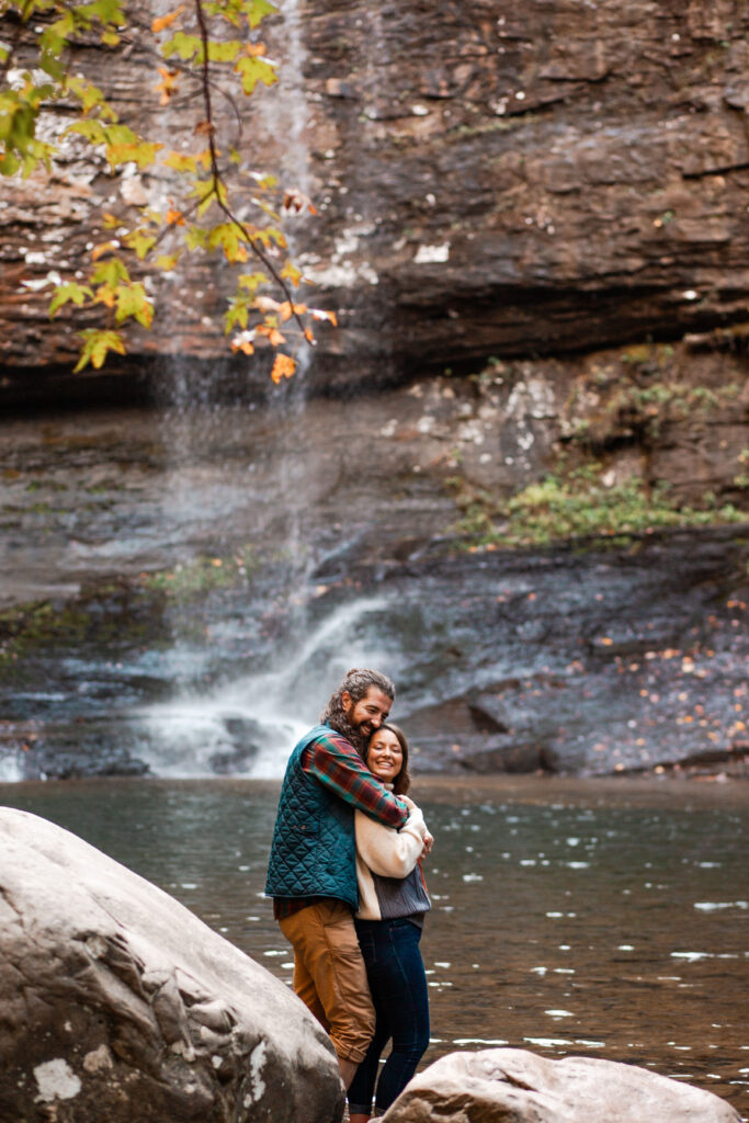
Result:
{"type": "Polygon", "coordinates": [[[368,770],[350,741],[330,730],[302,754],[302,768],[337,796],[386,827],[401,828],[409,809],[368,770]]]}

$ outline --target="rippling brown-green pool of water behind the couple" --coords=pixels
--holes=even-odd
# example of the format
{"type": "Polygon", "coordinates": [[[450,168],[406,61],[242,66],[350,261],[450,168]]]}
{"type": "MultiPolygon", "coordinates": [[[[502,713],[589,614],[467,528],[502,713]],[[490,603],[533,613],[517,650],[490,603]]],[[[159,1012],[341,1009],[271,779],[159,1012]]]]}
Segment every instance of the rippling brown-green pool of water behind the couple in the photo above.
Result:
{"type": "MultiPolygon", "coordinates": [[[[8,785],[289,982],[263,900],[277,784],[8,785]]],[[[422,942],[432,1042],[642,1065],[749,1116],[749,792],[741,785],[421,783],[436,846],[422,942]]]]}

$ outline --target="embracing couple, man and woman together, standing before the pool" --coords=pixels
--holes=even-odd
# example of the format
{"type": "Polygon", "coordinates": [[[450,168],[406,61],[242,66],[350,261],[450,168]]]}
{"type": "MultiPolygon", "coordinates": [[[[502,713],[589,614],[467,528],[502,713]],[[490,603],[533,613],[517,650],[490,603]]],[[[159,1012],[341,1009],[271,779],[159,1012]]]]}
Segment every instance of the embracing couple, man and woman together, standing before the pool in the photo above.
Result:
{"type": "Polygon", "coordinates": [[[294,990],[330,1034],[351,1123],[385,1112],[429,1043],[419,939],[431,849],[408,798],[395,690],[349,670],[289,759],[265,892],[294,949],[294,990]],[[380,1054],[393,1046],[380,1078],[380,1054]]]}

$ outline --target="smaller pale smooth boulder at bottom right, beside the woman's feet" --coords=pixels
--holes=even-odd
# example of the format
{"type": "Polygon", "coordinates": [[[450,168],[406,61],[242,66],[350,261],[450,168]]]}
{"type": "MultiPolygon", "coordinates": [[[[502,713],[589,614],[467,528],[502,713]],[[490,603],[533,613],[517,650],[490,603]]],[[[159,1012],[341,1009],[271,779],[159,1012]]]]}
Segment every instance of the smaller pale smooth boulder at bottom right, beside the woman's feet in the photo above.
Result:
{"type": "Polygon", "coordinates": [[[523,1049],[450,1053],[417,1076],[385,1113],[387,1123],[739,1123],[711,1092],[656,1072],[523,1049]]]}

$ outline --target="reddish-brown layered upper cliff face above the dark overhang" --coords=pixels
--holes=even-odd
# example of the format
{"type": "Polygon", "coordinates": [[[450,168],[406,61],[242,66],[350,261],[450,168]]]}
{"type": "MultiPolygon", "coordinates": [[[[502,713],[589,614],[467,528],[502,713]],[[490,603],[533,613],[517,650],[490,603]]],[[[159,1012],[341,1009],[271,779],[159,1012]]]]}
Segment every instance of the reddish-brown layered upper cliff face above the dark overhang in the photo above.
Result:
{"type": "MultiPolygon", "coordinates": [[[[294,245],[341,328],[321,340],[314,384],[736,336],[749,318],[741,0],[280,7],[268,42],[286,55],[281,95],[258,99],[243,144],[319,203],[294,245]]],[[[197,100],[158,117],[140,45],[81,48],[81,61],[124,119],[189,140],[197,100]]],[[[51,326],[48,294],[21,280],[74,273],[103,200],[127,213],[167,192],[159,176],[110,175],[73,144],[49,176],[3,183],[6,400],[64,373],[80,326],[51,326]]],[[[111,374],[131,381],[147,355],[226,354],[220,263],[165,285],[154,331],[111,374]]]]}

